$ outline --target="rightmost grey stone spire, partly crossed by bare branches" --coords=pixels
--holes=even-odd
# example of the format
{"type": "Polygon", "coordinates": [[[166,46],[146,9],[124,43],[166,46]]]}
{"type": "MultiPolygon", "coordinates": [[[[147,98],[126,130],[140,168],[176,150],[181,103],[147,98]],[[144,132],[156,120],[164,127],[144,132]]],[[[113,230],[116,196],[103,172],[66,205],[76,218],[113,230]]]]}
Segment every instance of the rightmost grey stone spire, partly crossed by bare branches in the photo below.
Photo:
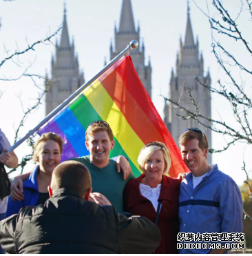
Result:
{"type": "MultiPolygon", "coordinates": [[[[195,106],[193,106],[187,88],[191,88],[193,99],[196,100],[196,104],[200,110],[200,114],[204,117],[211,117],[211,95],[209,90],[200,86],[195,77],[198,77],[202,83],[211,85],[211,78],[209,72],[204,77],[204,60],[202,53],[199,55],[199,43],[198,38],[196,42],[193,38],[193,30],[191,28],[191,19],[189,7],[187,10],[187,28],[185,31],[185,40],[180,38],[180,46],[177,54],[176,69],[175,72],[171,70],[171,80],[169,83],[169,99],[180,103],[180,106],[195,112],[195,106]],[[185,85],[187,88],[185,88],[185,85]]],[[[179,108],[174,108],[172,104],[165,104],[165,124],[171,132],[171,136],[178,144],[178,138],[181,133],[189,128],[200,128],[209,139],[209,148],[211,148],[211,131],[209,129],[204,130],[203,126],[198,124],[196,120],[188,119],[181,120],[176,116],[176,112],[180,112],[179,108]]],[[[180,112],[182,115],[183,112],[180,112]]],[[[184,112],[185,113],[185,112],[184,112]]],[[[203,124],[207,124],[207,121],[200,119],[203,124]]],[[[208,124],[209,125],[209,124],[208,124]]],[[[211,155],[208,155],[207,161],[211,164],[211,155]]]]}

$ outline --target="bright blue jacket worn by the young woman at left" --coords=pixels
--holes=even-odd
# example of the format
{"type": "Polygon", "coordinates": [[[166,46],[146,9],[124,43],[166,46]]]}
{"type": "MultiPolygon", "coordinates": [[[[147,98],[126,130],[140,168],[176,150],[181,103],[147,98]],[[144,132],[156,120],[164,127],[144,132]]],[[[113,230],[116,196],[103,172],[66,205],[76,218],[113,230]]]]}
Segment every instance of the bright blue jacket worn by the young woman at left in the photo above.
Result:
{"type": "Polygon", "coordinates": [[[15,213],[19,213],[19,210],[23,206],[35,206],[39,200],[39,186],[37,175],[39,172],[39,166],[36,166],[34,171],[30,174],[29,179],[23,181],[23,195],[25,199],[22,201],[13,201],[11,197],[8,200],[8,206],[6,211],[6,218],[15,213]]]}

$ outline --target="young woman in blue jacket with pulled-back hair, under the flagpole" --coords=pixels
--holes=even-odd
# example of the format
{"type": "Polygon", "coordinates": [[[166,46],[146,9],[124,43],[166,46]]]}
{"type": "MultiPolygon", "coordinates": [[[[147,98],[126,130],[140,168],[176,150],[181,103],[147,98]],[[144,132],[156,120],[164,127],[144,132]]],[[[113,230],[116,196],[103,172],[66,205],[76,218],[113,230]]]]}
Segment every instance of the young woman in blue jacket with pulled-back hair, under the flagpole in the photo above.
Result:
{"type": "Polygon", "coordinates": [[[33,160],[38,163],[30,177],[23,182],[21,201],[9,197],[6,217],[19,213],[23,206],[45,204],[49,199],[48,186],[51,183],[52,171],[61,161],[63,139],[54,132],[44,133],[34,144],[33,160]]]}

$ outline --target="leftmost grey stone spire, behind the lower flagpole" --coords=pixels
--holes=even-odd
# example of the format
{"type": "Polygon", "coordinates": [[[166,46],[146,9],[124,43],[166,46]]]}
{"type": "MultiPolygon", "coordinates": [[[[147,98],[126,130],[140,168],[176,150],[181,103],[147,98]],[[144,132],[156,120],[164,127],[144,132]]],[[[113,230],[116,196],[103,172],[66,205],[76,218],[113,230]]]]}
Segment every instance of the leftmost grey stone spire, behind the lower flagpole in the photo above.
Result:
{"type": "Polygon", "coordinates": [[[78,57],[74,52],[74,41],[70,44],[66,10],[61,31],[59,45],[56,42],[56,56],[52,56],[52,76],[49,79],[48,92],[45,94],[45,115],[52,112],[85,83],[84,74],[79,70],[78,57]]]}

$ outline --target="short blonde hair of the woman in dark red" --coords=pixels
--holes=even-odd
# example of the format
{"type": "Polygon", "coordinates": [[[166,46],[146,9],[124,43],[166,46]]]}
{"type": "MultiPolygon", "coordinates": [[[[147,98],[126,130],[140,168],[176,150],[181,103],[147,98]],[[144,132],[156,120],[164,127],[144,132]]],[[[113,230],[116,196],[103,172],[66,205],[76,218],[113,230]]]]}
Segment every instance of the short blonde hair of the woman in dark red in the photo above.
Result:
{"type": "MultiPolygon", "coordinates": [[[[158,142],[158,144],[162,144],[161,142],[158,142]]],[[[138,164],[141,170],[145,170],[145,163],[146,160],[156,151],[156,150],[162,150],[162,153],[164,155],[166,168],[164,170],[164,174],[167,174],[169,172],[169,168],[171,167],[171,157],[169,154],[169,150],[165,144],[162,144],[164,146],[161,148],[160,146],[151,145],[147,148],[145,146],[141,148],[140,154],[138,155],[138,164]]]]}

